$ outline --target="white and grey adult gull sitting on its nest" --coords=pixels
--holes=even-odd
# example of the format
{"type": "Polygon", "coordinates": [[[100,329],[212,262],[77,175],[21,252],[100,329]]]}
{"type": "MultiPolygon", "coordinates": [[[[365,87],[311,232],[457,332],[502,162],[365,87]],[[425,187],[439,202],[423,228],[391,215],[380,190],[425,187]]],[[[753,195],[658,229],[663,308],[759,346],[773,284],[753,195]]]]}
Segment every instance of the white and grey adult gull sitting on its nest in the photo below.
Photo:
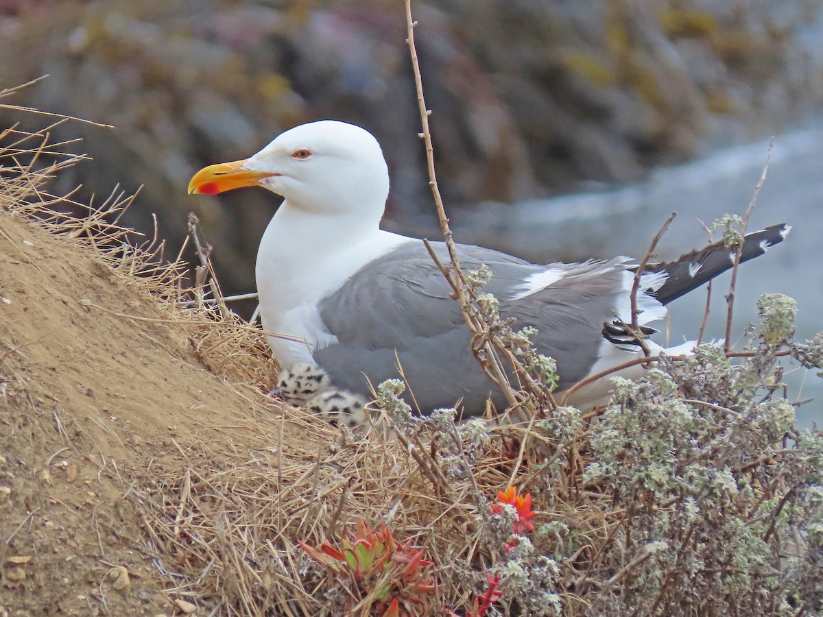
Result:
{"type": "MultiPolygon", "coordinates": [[[[335,120],[301,124],[248,159],[201,169],[188,193],[250,186],[284,197],[255,267],[263,328],[288,335],[268,337],[281,366],[316,367],[318,380],[328,376],[356,397],[402,377],[410,391],[404,396],[423,415],[456,405],[464,417],[482,415],[490,400],[498,410],[506,406],[472,355],[472,333],[423,240],[380,229],[388,169],[370,132],[335,120]]],[[[765,253],[789,229],[772,225],[746,235],[741,262],[765,253]]],[[[430,244],[449,262],[444,243],[430,244]]],[[[537,265],[467,244],[457,251],[466,271],[491,270],[482,290],[500,301],[500,314],[515,318],[515,329],[534,329],[536,350],[556,360],[559,391],[639,357],[637,341],[620,325],[632,321],[637,266],[629,258],[537,265]]],[[[647,267],[637,295],[639,325],[650,330],[669,302],[730,269],[735,254],[719,242],[647,267]]],[[[653,355],[680,355],[695,342],[645,345],[653,355]]],[[[579,389],[570,403],[592,406],[607,395],[607,382],[579,389]]]]}

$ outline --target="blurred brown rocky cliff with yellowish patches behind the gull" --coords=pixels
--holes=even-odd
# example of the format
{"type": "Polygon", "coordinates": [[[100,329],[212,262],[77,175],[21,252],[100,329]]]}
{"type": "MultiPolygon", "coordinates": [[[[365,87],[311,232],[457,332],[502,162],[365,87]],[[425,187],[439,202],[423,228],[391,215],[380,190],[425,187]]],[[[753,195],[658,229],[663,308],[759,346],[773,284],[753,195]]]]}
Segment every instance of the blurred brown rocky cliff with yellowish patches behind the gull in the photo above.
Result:
{"type": "MultiPolygon", "coordinates": [[[[415,11],[453,208],[641,179],[778,132],[823,100],[819,0],[426,0],[415,11]]],[[[404,29],[398,1],[2,0],[0,86],[49,74],[6,102],[116,126],[65,129],[93,160],[58,190],[144,185],[128,225],[151,230],[156,212],[178,246],[198,211],[226,291],[249,290],[277,198],[185,189],[196,169],[297,123],[374,132],[392,173],[387,227],[436,233],[404,29]]],[[[0,112],[2,126],[23,119],[0,112]]]]}

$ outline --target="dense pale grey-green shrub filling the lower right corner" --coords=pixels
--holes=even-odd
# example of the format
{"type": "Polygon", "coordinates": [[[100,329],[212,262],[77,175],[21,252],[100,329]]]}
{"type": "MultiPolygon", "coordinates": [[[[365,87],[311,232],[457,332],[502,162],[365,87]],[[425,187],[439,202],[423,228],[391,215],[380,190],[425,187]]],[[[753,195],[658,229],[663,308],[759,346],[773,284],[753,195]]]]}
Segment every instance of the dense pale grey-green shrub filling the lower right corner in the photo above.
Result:
{"type": "MultiPolygon", "coordinates": [[[[819,615],[823,435],[779,391],[793,300],[763,295],[742,364],[703,345],[616,379],[584,482],[611,496],[610,537],[571,579],[591,615],[819,615]]],[[[818,341],[819,342],[819,341],[818,341]]],[[[819,346],[818,346],[819,347],[819,346]]],[[[819,359],[812,341],[802,350],[819,359]]]]}

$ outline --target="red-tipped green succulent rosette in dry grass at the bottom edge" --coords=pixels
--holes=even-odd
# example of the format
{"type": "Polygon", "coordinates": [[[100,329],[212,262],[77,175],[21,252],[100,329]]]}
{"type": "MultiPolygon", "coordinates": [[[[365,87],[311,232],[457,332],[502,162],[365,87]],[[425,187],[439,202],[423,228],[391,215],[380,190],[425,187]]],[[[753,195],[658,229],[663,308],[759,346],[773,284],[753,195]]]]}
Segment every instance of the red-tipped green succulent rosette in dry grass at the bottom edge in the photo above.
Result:
{"type": "Polygon", "coordinates": [[[346,615],[426,615],[437,588],[432,562],[412,540],[399,544],[385,525],[367,527],[358,520],[355,531],[343,530],[338,547],[328,542],[300,546],[328,568],[333,584],[345,591],[346,615]]]}

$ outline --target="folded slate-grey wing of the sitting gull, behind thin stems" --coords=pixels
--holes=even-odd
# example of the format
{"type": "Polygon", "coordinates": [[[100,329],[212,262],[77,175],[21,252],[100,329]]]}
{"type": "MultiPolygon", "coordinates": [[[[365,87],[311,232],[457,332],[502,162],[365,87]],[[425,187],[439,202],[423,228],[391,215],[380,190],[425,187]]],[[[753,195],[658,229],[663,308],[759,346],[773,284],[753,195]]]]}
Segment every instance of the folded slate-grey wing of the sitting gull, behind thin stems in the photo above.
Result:
{"type": "MultiPolygon", "coordinates": [[[[444,244],[433,247],[448,262],[444,244]]],[[[557,360],[561,387],[588,374],[602,345],[603,322],[614,318],[622,262],[551,266],[565,269],[559,281],[512,299],[524,280],[547,267],[487,248],[458,245],[458,253],[466,270],[481,264],[491,269],[484,290],[500,299],[504,317],[517,318],[515,328],[537,328],[532,341],[557,360]]],[[[314,360],[335,386],[365,394],[365,376],[375,386],[397,378],[399,360],[424,413],[453,406],[460,397],[466,415],[481,414],[490,396],[501,406],[501,393],[472,355],[471,333],[450,292],[424,244],[403,245],[361,268],[321,302],[320,317],[337,343],[315,351],[314,360]]]]}

